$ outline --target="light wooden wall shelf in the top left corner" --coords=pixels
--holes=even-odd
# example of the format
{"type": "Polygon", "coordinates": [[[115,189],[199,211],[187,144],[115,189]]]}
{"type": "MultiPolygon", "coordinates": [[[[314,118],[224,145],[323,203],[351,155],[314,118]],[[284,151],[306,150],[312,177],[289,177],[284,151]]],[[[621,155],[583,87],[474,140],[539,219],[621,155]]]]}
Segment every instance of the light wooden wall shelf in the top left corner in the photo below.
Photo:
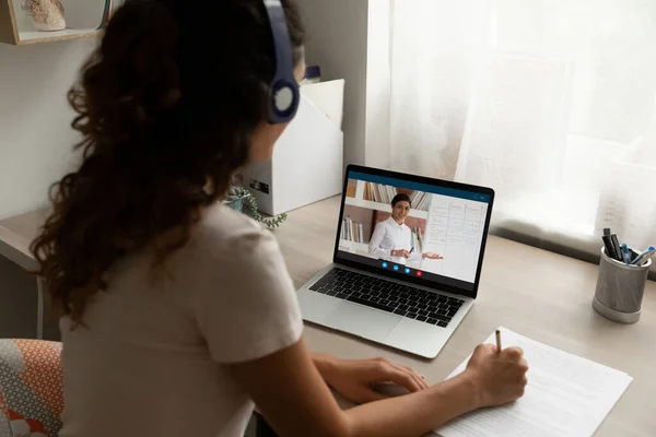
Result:
{"type": "Polygon", "coordinates": [[[21,0],[0,0],[0,43],[23,46],[87,38],[99,35],[99,28],[65,28],[56,32],[39,32],[21,10],[21,0]]]}

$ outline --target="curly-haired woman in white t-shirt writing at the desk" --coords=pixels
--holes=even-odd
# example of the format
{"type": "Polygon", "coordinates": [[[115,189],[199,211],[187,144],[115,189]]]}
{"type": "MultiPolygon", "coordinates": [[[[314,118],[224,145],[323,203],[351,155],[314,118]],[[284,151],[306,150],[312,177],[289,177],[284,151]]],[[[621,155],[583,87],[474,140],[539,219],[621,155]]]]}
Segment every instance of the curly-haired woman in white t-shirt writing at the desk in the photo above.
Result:
{"type": "MultiPolygon", "coordinates": [[[[70,92],[84,153],[32,247],[61,315],[60,437],[242,437],[254,401],[281,436],[419,436],[523,393],[516,349],[480,346],[427,388],[305,347],[273,235],[218,202],[286,126],[268,121],[276,5],[128,0],[70,92]],[[413,393],[383,399],[378,381],[413,393]],[[363,404],[342,412],[328,385],[363,404]]],[[[283,5],[301,80],[303,27],[283,5]]]]}

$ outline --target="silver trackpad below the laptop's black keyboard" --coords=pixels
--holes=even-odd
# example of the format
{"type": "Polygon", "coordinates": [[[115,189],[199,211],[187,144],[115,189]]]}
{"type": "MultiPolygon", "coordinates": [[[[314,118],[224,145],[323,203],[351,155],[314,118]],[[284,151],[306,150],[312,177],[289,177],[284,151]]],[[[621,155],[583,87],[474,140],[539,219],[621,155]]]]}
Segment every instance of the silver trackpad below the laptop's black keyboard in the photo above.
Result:
{"type": "Polygon", "coordinates": [[[401,320],[399,316],[340,302],[340,305],[326,318],[326,324],[340,331],[382,342],[399,320],[401,320]]]}

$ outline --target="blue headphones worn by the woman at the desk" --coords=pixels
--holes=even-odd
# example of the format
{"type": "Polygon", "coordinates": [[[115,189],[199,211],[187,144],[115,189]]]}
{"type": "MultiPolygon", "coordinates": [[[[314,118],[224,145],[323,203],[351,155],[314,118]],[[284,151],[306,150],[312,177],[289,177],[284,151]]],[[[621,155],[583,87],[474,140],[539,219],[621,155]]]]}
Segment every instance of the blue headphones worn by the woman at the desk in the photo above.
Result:
{"type": "Polygon", "coordinates": [[[280,0],[263,0],[263,2],[269,15],[276,52],[276,74],[269,88],[269,122],[279,125],[291,121],[296,115],[300,93],[294,78],[292,42],[282,3],[280,0]]]}

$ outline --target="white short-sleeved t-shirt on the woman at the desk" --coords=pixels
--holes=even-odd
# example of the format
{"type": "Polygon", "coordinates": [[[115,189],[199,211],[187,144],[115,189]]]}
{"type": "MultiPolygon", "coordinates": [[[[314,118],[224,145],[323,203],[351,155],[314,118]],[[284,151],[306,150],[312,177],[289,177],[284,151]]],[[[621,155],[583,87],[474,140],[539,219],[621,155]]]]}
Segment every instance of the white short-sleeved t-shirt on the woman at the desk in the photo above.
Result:
{"type": "Polygon", "coordinates": [[[273,235],[223,205],[152,281],[151,253],[119,260],[108,291],[60,322],[60,437],[243,437],[253,401],[227,364],[296,343],[303,321],[273,235]]]}

